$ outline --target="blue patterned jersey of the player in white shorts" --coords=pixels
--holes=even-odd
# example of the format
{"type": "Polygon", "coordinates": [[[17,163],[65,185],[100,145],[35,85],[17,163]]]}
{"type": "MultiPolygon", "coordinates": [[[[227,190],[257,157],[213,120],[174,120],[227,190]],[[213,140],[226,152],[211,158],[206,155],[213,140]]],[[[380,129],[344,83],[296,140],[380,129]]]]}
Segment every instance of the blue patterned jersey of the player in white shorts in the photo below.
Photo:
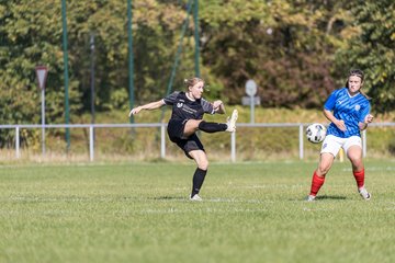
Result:
{"type": "Polygon", "coordinates": [[[347,88],[334,91],[326,101],[324,108],[331,111],[337,119],[345,121],[346,132],[341,132],[334,123],[328,127],[327,135],[335,135],[340,138],[361,136],[359,123],[363,123],[370,113],[369,100],[358,93],[351,96],[347,88]]]}

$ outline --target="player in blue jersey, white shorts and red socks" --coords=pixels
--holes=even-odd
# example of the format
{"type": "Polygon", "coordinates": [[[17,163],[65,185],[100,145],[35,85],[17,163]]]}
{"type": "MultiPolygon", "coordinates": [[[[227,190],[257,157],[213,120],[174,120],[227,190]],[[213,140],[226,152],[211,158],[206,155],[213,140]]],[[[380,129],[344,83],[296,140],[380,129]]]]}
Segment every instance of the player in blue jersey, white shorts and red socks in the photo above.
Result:
{"type": "Polygon", "coordinates": [[[351,161],[358,192],[362,198],[366,201],[371,198],[371,194],[364,186],[361,130],[368,127],[373,116],[370,114],[370,98],[361,91],[363,79],[361,70],[351,70],[346,87],[335,90],[324,105],[324,115],[331,123],[323,141],[318,168],[313,174],[307,201],[316,198],[340,148],[345,149],[351,161]]]}

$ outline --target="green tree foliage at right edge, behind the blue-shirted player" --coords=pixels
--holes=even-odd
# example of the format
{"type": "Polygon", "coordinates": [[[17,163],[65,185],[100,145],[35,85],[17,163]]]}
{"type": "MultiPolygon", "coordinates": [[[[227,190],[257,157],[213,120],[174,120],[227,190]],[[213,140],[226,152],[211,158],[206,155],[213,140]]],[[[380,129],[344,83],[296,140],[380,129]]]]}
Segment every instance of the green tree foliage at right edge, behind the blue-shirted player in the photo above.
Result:
{"type": "Polygon", "coordinates": [[[358,1],[352,7],[357,33],[337,54],[338,68],[365,71],[364,89],[377,112],[395,108],[395,3],[358,1]]]}

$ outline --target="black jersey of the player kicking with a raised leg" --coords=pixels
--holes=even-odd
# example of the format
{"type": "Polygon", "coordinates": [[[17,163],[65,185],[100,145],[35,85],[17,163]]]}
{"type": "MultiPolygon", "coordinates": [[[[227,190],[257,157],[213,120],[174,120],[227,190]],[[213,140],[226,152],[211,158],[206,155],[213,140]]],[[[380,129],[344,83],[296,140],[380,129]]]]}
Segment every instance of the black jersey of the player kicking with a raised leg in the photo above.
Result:
{"type": "Polygon", "coordinates": [[[163,101],[167,105],[172,105],[171,119],[202,119],[204,113],[214,114],[213,104],[203,98],[191,101],[183,91],[174,91],[163,101]]]}

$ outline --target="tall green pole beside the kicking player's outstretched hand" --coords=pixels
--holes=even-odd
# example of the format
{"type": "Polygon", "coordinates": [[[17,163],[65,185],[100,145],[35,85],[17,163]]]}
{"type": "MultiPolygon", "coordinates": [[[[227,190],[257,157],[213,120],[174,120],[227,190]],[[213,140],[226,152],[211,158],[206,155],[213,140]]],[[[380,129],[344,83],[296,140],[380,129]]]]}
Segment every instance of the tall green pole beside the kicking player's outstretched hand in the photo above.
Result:
{"type": "MultiPolygon", "coordinates": [[[[132,28],[132,0],[127,0],[127,36],[128,36],[128,70],[129,70],[129,107],[134,107],[134,68],[133,68],[133,28],[132,28]]],[[[131,116],[131,123],[134,123],[133,115],[131,116]]]]}

